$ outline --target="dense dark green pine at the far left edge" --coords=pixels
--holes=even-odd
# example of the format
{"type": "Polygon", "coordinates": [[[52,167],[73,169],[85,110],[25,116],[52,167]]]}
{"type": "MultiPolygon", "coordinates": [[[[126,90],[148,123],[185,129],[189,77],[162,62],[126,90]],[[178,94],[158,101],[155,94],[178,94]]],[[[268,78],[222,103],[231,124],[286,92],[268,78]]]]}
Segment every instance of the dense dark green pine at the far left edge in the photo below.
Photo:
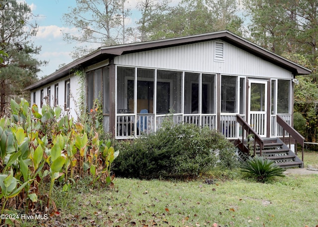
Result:
{"type": "Polygon", "coordinates": [[[23,95],[23,88],[37,79],[44,62],[33,56],[40,51],[30,41],[37,25],[30,24],[30,7],[16,0],[2,0],[0,4],[0,116],[4,114],[10,97],[23,95]]]}

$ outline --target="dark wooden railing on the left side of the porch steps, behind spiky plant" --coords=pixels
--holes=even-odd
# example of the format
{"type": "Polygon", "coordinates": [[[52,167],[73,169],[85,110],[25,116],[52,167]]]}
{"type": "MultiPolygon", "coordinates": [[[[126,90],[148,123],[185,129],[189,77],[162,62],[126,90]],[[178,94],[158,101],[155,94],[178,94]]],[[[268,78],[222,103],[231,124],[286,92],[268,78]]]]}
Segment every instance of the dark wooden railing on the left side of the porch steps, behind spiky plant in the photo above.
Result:
{"type": "MultiPolygon", "coordinates": [[[[242,136],[242,148],[244,148],[244,135],[253,135],[254,137],[254,156],[256,155],[256,143],[259,146],[259,152],[260,156],[262,156],[262,150],[264,149],[264,141],[263,139],[256,133],[256,131],[250,127],[250,125],[238,114],[237,115],[237,121],[240,124],[242,131],[241,131],[241,136],[242,136]]],[[[249,138],[247,138],[249,142],[249,138]]],[[[249,143],[247,142],[247,151],[249,152],[249,143]]],[[[242,150],[244,151],[244,150],[242,150]]]]}

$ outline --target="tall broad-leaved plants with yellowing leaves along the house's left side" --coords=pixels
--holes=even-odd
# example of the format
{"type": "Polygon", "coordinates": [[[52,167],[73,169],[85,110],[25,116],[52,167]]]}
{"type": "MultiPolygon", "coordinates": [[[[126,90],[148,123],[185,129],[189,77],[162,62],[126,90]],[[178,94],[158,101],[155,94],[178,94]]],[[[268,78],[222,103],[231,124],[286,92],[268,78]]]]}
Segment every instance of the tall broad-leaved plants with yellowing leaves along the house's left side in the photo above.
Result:
{"type": "Polygon", "coordinates": [[[0,119],[1,214],[10,212],[6,207],[56,209],[51,197],[57,179],[64,191],[79,178],[88,177],[92,187],[96,181],[111,184],[118,153],[110,140],[99,140],[95,128],[62,116],[60,107],[44,105],[40,113],[24,99],[11,100],[10,118],[0,119]],[[48,195],[39,190],[46,183],[48,195]]]}

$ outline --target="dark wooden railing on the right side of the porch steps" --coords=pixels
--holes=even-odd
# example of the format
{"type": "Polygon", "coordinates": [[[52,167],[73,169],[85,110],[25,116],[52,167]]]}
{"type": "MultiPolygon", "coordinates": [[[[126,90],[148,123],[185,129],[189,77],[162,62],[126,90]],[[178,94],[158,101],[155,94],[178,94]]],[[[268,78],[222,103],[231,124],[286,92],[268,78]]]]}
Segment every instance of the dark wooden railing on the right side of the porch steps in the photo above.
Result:
{"type": "Polygon", "coordinates": [[[295,143],[295,154],[297,155],[297,143],[302,146],[302,161],[304,161],[304,145],[305,145],[305,138],[299,134],[293,127],[284,121],[284,119],[277,115],[276,118],[277,123],[283,128],[283,141],[285,143],[285,131],[289,134],[289,149],[291,148],[291,137],[293,137],[296,141],[295,143]]]}

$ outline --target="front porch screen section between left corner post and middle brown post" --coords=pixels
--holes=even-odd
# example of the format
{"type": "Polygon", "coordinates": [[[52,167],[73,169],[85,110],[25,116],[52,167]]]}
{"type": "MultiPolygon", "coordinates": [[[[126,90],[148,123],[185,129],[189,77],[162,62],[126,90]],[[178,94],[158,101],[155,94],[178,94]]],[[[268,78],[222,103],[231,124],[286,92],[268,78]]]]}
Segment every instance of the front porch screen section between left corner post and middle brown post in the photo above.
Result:
{"type": "Polygon", "coordinates": [[[116,137],[156,132],[164,118],[216,128],[216,76],[116,67],[116,137]]]}

